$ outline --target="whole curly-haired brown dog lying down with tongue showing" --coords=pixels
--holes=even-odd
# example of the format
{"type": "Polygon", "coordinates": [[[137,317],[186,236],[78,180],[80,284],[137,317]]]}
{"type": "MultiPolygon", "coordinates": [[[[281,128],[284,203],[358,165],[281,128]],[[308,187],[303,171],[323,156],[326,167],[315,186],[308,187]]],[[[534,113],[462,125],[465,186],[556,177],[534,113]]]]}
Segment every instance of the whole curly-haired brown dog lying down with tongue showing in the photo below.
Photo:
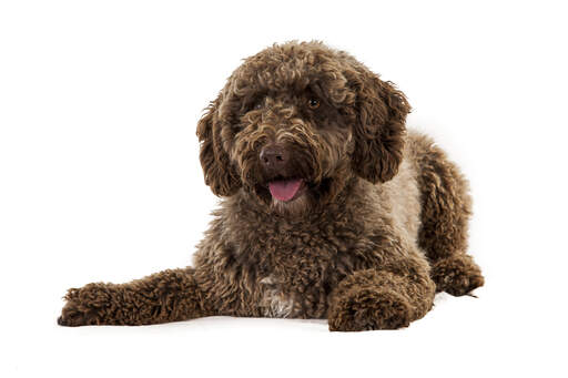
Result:
{"type": "Polygon", "coordinates": [[[222,196],[193,267],[72,288],[59,324],[149,325],[210,315],[406,327],[436,292],[484,284],[467,251],[467,182],[406,132],[404,94],[318,42],[265,49],[197,125],[222,196]]]}

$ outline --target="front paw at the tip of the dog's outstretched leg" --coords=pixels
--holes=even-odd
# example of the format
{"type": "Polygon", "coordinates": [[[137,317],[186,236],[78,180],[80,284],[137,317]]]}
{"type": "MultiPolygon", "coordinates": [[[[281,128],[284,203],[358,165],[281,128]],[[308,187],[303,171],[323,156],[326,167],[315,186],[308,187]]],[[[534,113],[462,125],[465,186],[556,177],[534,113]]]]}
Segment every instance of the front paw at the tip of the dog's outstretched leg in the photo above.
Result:
{"type": "Polygon", "coordinates": [[[78,327],[105,324],[104,319],[111,307],[111,294],[105,284],[89,284],[81,288],[71,288],[61,316],[60,326],[78,327]]]}

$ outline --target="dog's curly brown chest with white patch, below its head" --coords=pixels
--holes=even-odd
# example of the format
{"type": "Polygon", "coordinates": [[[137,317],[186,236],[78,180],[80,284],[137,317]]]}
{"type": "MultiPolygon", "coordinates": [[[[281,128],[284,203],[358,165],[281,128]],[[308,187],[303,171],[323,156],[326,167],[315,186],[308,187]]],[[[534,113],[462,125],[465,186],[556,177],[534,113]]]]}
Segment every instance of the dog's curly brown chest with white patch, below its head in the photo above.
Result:
{"type": "Polygon", "coordinates": [[[221,217],[199,255],[203,285],[223,314],[324,318],[328,297],[367,248],[357,221],[339,214],[291,224],[243,211],[221,217]],[[204,274],[205,276],[205,274],[204,274]]]}

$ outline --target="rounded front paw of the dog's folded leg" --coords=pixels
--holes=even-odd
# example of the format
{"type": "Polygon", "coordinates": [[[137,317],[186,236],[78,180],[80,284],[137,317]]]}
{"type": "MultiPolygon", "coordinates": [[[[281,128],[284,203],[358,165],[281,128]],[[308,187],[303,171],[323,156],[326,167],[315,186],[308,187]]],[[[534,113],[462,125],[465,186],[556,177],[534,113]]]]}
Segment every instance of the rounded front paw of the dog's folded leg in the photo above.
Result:
{"type": "Polygon", "coordinates": [[[397,329],[410,324],[412,307],[399,294],[386,289],[345,293],[329,314],[329,330],[397,329]]]}

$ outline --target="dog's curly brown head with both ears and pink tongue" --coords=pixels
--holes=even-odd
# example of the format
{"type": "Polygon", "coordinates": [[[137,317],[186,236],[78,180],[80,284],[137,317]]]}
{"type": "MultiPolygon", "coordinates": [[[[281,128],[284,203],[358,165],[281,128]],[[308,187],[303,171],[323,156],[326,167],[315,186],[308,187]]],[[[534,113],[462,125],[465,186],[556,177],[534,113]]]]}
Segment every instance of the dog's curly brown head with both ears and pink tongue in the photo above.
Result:
{"type": "Polygon", "coordinates": [[[197,125],[205,183],[283,214],[333,201],[359,176],[397,172],[409,111],[404,94],[322,43],[261,51],[233,72],[197,125]]]}

